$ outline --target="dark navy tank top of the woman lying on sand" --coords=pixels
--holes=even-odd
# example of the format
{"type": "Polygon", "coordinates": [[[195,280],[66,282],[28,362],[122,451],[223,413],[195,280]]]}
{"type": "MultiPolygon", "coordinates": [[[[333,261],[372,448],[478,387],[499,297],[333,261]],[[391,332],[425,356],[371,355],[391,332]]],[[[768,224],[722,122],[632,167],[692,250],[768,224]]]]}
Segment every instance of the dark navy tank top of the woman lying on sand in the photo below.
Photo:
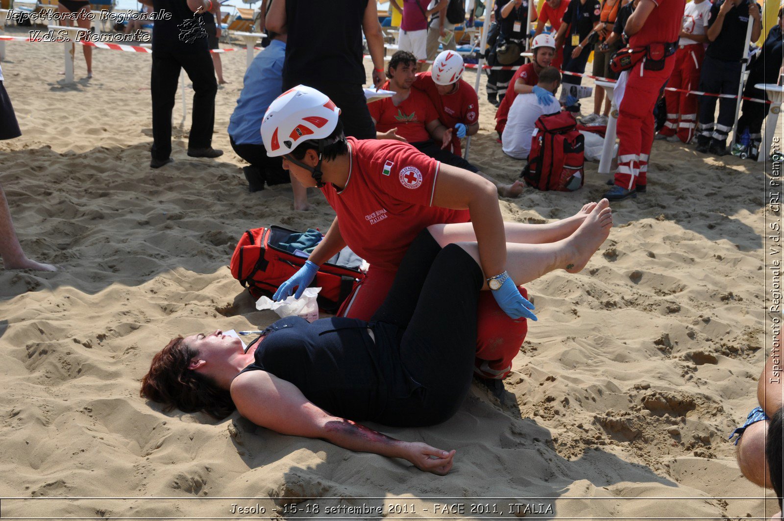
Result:
{"type": "Polygon", "coordinates": [[[242,373],[263,370],[295,384],[307,399],[330,414],[351,420],[383,415],[390,395],[407,396],[418,387],[397,357],[396,333],[358,319],[299,317],[278,320],[242,373]]]}

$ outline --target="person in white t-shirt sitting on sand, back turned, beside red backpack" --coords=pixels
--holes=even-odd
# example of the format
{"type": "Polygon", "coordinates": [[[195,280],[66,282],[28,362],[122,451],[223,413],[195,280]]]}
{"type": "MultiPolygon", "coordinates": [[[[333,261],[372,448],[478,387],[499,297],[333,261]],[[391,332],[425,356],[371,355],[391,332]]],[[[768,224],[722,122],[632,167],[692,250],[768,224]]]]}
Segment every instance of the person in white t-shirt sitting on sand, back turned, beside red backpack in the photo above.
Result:
{"type": "Polygon", "coordinates": [[[539,73],[539,83],[536,86],[553,94],[550,102],[539,104],[535,93],[518,95],[509,109],[506,127],[501,135],[504,153],[515,159],[528,158],[528,153],[531,151],[531,137],[539,116],[561,111],[561,104],[555,97],[558,87],[561,86],[561,73],[558,69],[544,68],[539,73]]]}

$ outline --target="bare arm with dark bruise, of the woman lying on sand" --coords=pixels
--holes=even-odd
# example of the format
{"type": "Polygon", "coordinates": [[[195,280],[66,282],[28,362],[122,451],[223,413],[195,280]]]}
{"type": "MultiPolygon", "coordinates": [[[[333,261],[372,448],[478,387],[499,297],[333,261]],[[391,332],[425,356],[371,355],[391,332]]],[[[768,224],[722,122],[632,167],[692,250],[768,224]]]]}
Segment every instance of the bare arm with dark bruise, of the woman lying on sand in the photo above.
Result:
{"type": "Polygon", "coordinates": [[[452,468],[454,450],[403,442],[332,416],[308,401],[296,385],[265,371],[249,371],[234,378],[231,398],[243,417],[281,434],[320,438],[344,449],[400,457],[438,475],[445,475],[452,468]]]}

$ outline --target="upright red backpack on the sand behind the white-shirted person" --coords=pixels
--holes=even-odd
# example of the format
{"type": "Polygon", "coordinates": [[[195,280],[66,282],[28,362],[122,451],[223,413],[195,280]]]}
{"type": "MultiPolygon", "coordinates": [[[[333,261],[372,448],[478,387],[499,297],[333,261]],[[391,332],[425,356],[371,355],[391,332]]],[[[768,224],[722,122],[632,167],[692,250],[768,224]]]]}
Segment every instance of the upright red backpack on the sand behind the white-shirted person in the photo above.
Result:
{"type": "Polygon", "coordinates": [[[571,112],[536,120],[531,153],[520,177],[537,190],[575,191],[585,182],[585,138],[571,112]]]}

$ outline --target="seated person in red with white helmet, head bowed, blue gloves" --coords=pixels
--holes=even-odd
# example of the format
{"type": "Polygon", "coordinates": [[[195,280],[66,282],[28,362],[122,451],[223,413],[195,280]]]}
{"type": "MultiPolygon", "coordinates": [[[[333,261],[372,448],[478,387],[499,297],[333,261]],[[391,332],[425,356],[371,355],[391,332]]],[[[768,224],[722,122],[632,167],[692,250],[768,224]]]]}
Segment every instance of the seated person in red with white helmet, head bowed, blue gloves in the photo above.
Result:
{"type": "Polygon", "coordinates": [[[452,153],[461,155],[460,140],[479,130],[479,98],[474,87],[466,83],[463,56],[444,51],[436,56],[432,72],[416,75],[414,88],[427,94],[436,107],[438,119],[452,129],[452,153]]]}

